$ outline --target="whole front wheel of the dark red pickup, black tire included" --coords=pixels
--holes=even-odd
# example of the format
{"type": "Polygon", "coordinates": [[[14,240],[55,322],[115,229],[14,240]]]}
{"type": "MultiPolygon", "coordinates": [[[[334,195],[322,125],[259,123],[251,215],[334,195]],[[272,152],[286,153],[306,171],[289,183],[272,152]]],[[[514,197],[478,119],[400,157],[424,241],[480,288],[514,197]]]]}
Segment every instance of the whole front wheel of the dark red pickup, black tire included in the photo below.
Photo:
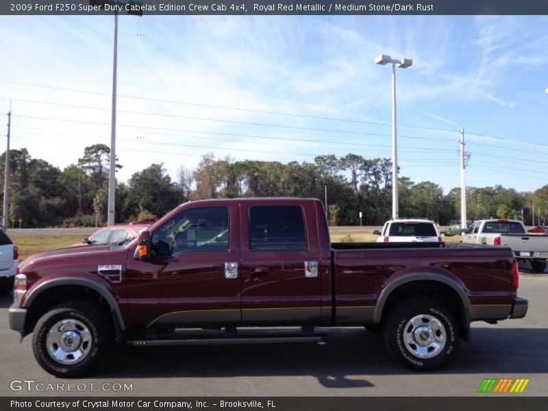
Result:
{"type": "Polygon", "coordinates": [[[67,301],[38,320],[32,349],[38,364],[47,373],[75,377],[89,373],[98,364],[112,343],[110,334],[108,318],[95,304],[67,301]],[[54,329],[58,330],[58,337],[53,333],[54,329]],[[64,345],[66,350],[62,349],[62,344],[68,344],[64,345]],[[60,356],[65,357],[64,361],[60,356]]]}

